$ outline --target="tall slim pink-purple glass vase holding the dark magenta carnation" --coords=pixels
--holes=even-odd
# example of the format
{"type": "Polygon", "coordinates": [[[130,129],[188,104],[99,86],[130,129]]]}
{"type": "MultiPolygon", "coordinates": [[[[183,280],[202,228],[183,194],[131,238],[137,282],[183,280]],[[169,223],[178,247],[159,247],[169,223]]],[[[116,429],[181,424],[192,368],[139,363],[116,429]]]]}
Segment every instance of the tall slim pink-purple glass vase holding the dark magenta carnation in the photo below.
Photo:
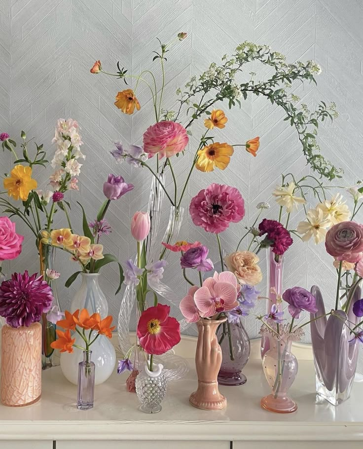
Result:
{"type": "MultiPolygon", "coordinates": [[[[275,289],[277,295],[282,295],[282,281],[283,281],[283,269],[284,269],[284,255],[277,256],[279,258],[278,261],[275,260],[275,253],[272,252],[272,248],[270,247],[268,250],[267,256],[267,294],[266,297],[270,298],[266,304],[266,314],[268,314],[271,310],[272,304],[276,304],[277,296],[275,293],[271,293],[271,289],[275,289]]],[[[278,305],[278,311],[282,311],[282,303],[278,305]]],[[[270,349],[270,338],[268,336],[262,336],[261,338],[261,358],[266,354],[266,352],[270,349]]]]}

